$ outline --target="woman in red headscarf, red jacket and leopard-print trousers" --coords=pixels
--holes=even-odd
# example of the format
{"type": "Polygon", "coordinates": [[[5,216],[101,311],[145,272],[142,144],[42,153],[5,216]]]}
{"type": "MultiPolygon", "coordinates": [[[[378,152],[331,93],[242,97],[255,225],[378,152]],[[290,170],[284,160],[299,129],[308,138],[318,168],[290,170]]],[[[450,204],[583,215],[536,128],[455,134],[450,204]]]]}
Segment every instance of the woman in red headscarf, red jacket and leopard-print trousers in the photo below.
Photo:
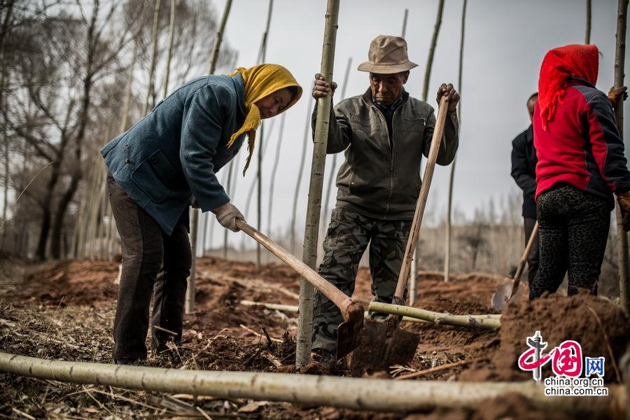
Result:
{"type": "Polygon", "coordinates": [[[595,83],[595,45],[549,50],[540,68],[533,116],[540,267],[529,298],[558,290],[568,270],[568,295],[597,293],[613,194],[630,228],[630,172],[615,114],[595,83]]]}

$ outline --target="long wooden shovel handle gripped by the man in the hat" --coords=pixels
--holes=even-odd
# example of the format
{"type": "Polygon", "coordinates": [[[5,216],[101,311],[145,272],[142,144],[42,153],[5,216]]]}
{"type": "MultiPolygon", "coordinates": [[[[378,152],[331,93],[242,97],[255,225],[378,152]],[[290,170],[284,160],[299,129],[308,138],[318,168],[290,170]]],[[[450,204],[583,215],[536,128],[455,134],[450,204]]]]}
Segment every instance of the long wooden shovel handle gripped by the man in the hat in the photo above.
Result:
{"type": "Polygon", "coordinates": [[[420,235],[420,226],[422,224],[422,217],[424,216],[424,209],[426,208],[426,200],[431,186],[431,180],[433,179],[435,162],[437,162],[437,153],[440,151],[440,144],[442,144],[442,134],[444,134],[444,121],[446,121],[447,105],[448,100],[443,96],[442,99],[440,99],[440,106],[437,109],[437,120],[435,121],[435,129],[433,130],[433,137],[431,138],[431,147],[426,161],[426,168],[424,169],[420,194],[418,196],[418,201],[416,202],[414,221],[412,223],[411,231],[409,232],[409,239],[407,239],[405,258],[402,260],[402,267],[400,267],[400,274],[398,275],[398,284],[396,285],[396,291],[393,297],[394,302],[397,303],[402,302],[402,295],[405,293],[405,287],[407,287],[407,281],[409,281],[411,261],[414,251],[416,250],[418,236],[420,235]]]}

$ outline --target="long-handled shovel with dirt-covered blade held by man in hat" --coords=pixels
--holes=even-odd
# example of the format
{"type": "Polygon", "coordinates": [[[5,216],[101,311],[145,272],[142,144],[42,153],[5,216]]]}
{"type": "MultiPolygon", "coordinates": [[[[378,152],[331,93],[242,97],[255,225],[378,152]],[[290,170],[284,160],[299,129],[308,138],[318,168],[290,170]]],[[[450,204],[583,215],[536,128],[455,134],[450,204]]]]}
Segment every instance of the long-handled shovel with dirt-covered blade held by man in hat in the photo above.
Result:
{"type": "MultiPolygon", "coordinates": [[[[409,232],[409,239],[407,239],[405,258],[402,260],[398,283],[393,295],[393,304],[404,304],[403,297],[405,288],[407,288],[407,281],[409,280],[411,261],[420,233],[420,225],[426,207],[431,179],[433,179],[437,153],[440,151],[440,144],[442,143],[447,105],[446,97],[442,97],[440,107],[437,110],[437,120],[435,121],[431,147],[426,168],[424,169],[422,186],[416,202],[414,221],[409,232]]],[[[353,376],[360,376],[367,371],[385,370],[391,365],[406,365],[414,358],[416,348],[420,342],[420,336],[400,328],[398,324],[401,319],[401,316],[389,315],[385,321],[373,319],[365,321],[360,345],[352,354],[350,362],[350,372],[353,376]]]]}

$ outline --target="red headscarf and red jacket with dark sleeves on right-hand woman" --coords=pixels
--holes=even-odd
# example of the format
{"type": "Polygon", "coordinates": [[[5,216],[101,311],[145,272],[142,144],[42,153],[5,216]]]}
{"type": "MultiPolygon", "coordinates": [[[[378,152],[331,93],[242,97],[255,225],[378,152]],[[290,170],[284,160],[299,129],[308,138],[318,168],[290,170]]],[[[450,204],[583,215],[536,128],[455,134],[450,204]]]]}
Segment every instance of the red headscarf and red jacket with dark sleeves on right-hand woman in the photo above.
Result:
{"type": "Polygon", "coordinates": [[[568,183],[602,197],[630,191],[624,144],[608,97],[594,87],[594,45],[567,45],[547,52],[540,69],[533,116],[538,155],[535,197],[568,183]]]}

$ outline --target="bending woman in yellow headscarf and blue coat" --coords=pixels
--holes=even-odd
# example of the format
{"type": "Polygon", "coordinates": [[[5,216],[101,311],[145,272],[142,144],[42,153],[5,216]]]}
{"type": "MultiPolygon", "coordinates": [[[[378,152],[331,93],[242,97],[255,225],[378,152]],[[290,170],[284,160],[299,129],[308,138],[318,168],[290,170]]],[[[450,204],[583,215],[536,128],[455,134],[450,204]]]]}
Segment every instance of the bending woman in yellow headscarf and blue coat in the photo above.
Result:
{"type": "Polygon", "coordinates": [[[283,66],[261,64],[230,76],[204,76],[176,89],[134,127],[102,148],[107,188],[123,248],[114,320],[113,359],[146,358],[145,339],[153,294],[152,345],[181,340],[191,200],[237,232],[240,211],[216,173],[255,130],[293,106],[302,88],[283,66]]]}

